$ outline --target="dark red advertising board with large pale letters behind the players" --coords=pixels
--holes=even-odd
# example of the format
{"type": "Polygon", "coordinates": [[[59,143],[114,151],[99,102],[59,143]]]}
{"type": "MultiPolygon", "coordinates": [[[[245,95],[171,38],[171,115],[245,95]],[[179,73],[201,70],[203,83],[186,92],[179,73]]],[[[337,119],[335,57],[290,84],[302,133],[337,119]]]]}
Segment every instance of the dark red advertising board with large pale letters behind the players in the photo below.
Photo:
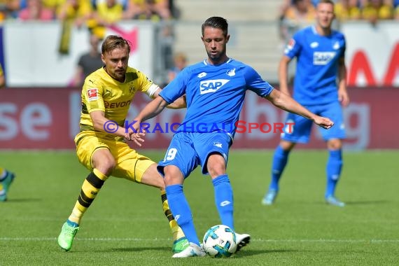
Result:
{"type": "MultiPolygon", "coordinates": [[[[349,88],[351,104],[344,110],[348,139],[346,149],[399,148],[399,111],[394,108],[399,90],[384,88],[349,88]]],[[[15,88],[0,92],[0,148],[69,149],[79,131],[80,90],[66,88],[15,88]]],[[[137,94],[127,120],[148,102],[137,94]]],[[[174,134],[173,123],[183,119],[185,110],[165,110],[149,120],[149,133],[142,148],[167,148],[174,134]],[[161,127],[155,128],[155,125],[161,127]],[[163,126],[163,127],[162,127],[163,126]]],[[[275,148],[279,128],[286,113],[253,93],[246,95],[239,129],[233,148],[275,148]],[[272,127],[272,129],[269,128],[272,127]]],[[[314,128],[316,129],[316,128],[314,128]]],[[[317,130],[311,143],[298,148],[324,148],[317,130]]]]}

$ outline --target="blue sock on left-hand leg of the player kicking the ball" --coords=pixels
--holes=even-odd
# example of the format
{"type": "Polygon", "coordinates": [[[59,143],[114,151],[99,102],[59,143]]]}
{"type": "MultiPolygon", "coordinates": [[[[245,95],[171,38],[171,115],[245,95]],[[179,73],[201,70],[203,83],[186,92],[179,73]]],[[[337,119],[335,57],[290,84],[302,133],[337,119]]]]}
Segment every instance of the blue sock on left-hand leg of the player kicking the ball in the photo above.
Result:
{"type": "Polygon", "coordinates": [[[200,246],[200,240],[197,237],[193,223],[193,215],[191,214],[190,207],[183,193],[183,185],[172,185],[165,188],[167,193],[167,200],[169,208],[177,222],[183,230],[184,235],[189,242],[195,243],[200,246]]]}

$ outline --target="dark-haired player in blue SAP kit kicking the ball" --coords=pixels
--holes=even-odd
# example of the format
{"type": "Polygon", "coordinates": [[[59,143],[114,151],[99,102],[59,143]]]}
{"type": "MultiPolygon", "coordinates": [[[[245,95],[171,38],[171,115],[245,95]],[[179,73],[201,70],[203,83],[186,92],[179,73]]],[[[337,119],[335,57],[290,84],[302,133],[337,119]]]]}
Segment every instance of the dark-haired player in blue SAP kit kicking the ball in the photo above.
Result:
{"type": "MultiPolygon", "coordinates": [[[[176,130],[164,160],[158,165],[158,171],[164,176],[169,207],[190,242],[185,250],[174,254],[174,258],[205,255],[183,193],[184,179],[198,165],[203,174],[211,176],[221,223],[234,230],[233,193],[226,165],[246,90],[281,109],[309,118],[321,127],[333,125],[330,119],[314,115],[291,97],[274,90],[251,66],[228,57],[229,38],[227,20],[220,17],[207,19],[202,25],[202,42],[208,58],[186,66],[135,118],[137,124],[153,118],[169,102],[186,95],[186,117],[176,130]]],[[[249,239],[248,234],[237,234],[238,249],[248,244],[249,239]]]]}

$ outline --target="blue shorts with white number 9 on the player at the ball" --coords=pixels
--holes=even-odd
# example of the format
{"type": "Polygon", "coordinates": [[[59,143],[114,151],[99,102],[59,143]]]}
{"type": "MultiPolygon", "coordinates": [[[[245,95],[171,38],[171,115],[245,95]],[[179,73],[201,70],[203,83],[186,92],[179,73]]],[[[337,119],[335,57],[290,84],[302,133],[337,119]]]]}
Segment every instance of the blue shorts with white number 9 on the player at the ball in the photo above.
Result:
{"type": "Polygon", "coordinates": [[[184,178],[198,166],[202,166],[202,174],[209,174],[207,160],[211,153],[220,153],[227,165],[231,139],[224,132],[178,132],[174,134],[164,160],[158,164],[158,172],[165,175],[164,167],[179,167],[184,178]]]}

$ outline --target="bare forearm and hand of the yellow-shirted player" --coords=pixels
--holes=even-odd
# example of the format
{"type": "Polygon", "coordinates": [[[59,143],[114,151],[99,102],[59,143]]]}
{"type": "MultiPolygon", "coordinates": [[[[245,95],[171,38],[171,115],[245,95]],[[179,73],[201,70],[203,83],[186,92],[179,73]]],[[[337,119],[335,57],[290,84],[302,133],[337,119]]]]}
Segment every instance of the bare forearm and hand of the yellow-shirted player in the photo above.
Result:
{"type": "MultiPolygon", "coordinates": [[[[100,131],[100,132],[106,132],[104,130],[104,125],[106,123],[109,123],[110,120],[104,116],[104,111],[92,111],[90,113],[90,118],[92,118],[92,123],[94,130],[100,131]]],[[[106,132],[111,134],[111,132],[106,132]]],[[[118,137],[123,137],[128,141],[134,141],[137,146],[141,146],[141,143],[144,142],[144,137],[145,137],[145,132],[134,132],[133,130],[125,130],[125,127],[118,127],[116,132],[113,132],[112,134],[118,136],[118,137]]]]}

